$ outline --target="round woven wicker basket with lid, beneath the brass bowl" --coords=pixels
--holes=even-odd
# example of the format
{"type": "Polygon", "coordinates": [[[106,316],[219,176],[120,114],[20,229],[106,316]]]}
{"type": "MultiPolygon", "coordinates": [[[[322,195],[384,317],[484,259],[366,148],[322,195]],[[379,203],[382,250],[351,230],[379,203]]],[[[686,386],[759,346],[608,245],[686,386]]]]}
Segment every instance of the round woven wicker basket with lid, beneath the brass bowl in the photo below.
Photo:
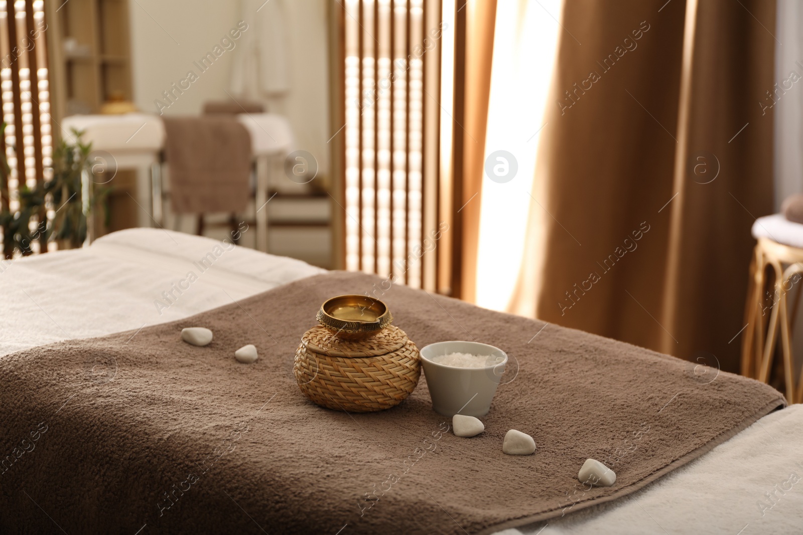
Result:
{"type": "Polygon", "coordinates": [[[421,356],[397,326],[385,326],[357,340],[314,326],[301,338],[293,374],[304,395],[322,407],[383,411],[402,403],[414,390],[421,356]]]}

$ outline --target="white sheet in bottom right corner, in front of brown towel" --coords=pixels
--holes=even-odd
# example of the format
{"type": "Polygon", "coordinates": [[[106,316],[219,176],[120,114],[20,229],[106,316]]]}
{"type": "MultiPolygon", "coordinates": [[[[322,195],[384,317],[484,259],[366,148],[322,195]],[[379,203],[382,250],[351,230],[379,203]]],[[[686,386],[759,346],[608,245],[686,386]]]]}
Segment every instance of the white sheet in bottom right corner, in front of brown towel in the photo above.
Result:
{"type": "Polygon", "coordinates": [[[630,496],[496,535],[520,533],[803,533],[803,405],[764,416],[630,496]],[[771,499],[766,493],[773,492],[771,499]]]}

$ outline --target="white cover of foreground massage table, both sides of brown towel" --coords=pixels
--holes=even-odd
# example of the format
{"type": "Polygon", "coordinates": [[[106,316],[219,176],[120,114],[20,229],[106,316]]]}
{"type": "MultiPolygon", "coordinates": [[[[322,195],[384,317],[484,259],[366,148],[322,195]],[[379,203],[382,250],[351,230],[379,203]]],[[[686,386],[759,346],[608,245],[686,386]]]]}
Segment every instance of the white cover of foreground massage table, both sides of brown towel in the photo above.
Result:
{"type": "MultiPolygon", "coordinates": [[[[69,338],[186,318],[327,273],[303,261],[230,246],[189,290],[172,298],[162,294],[218,244],[169,230],[128,229],[84,249],[2,261],[0,359],[69,338]]],[[[801,533],[803,482],[791,474],[803,476],[799,405],[765,415],[628,496],[498,533],[801,533]]]]}

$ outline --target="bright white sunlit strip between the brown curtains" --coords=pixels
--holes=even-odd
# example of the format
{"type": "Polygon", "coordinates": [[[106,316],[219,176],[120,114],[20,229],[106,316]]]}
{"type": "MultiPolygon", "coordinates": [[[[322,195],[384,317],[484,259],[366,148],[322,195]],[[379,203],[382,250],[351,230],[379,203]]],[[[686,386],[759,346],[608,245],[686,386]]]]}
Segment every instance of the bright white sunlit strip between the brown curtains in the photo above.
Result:
{"type": "MultiPolygon", "coordinates": [[[[499,184],[483,176],[476,302],[505,310],[524,250],[533,174],[560,26],[560,0],[541,0],[529,9],[518,2],[496,7],[491,96],[485,157],[505,150],[516,156],[518,172],[499,184]],[[535,134],[535,135],[534,135],[535,134]]],[[[533,196],[537,193],[532,193],[533,196]]]]}

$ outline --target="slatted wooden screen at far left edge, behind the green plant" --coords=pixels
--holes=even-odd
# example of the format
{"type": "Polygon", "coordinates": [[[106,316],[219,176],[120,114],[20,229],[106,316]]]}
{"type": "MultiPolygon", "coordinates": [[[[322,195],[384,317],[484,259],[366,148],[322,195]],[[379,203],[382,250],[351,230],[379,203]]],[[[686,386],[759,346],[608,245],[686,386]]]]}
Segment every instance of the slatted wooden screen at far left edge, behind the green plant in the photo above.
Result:
{"type": "MultiPolygon", "coordinates": [[[[12,213],[19,209],[19,188],[34,187],[52,172],[46,30],[43,0],[0,0],[0,93],[6,122],[0,149],[10,167],[2,208],[12,213]]],[[[40,221],[47,222],[45,210],[31,221],[33,252],[47,251],[44,233],[37,232],[40,221]]],[[[3,253],[11,257],[11,244],[3,244],[3,253]]]]}

